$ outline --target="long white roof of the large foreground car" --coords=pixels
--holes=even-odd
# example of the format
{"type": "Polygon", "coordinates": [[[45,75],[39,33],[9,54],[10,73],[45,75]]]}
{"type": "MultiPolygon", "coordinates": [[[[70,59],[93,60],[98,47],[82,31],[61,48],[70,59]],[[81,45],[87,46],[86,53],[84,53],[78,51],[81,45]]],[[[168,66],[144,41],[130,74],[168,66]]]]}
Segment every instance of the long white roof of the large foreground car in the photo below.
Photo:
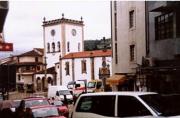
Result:
{"type": "Polygon", "coordinates": [[[157,94],[155,92],[135,92],[135,91],[123,91],[123,92],[96,92],[96,93],[86,93],[82,96],[99,96],[99,95],[128,95],[128,96],[140,96],[148,94],[157,94]]]}

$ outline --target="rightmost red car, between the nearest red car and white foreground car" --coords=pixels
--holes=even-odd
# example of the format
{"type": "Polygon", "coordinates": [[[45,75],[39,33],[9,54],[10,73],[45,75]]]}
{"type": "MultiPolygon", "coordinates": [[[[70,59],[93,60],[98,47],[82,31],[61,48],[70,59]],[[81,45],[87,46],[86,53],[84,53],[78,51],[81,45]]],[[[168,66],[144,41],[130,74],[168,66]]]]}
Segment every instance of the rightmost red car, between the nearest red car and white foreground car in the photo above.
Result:
{"type": "Polygon", "coordinates": [[[59,101],[59,100],[55,100],[53,102],[54,106],[56,106],[59,111],[60,111],[60,114],[62,116],[65,116],[65,117],[69,117],[69,110],[68,110],[68,107],[66,105],[63,104],[62,101],[59,101]]]}

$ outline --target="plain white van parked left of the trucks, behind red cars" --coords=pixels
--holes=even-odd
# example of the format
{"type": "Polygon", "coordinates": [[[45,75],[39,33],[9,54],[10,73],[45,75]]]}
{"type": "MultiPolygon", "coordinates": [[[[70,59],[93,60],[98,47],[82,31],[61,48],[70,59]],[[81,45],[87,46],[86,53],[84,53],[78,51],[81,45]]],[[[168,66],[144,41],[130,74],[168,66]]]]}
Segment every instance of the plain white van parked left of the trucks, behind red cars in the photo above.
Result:
{"type": "Polygon", "coordinates": [[[49,86],[48,87],[48,98],[56,98],[58,100],[64,100],[64,95],[69,102],[73,101],[73,96],[66,86],[49,86]]]}

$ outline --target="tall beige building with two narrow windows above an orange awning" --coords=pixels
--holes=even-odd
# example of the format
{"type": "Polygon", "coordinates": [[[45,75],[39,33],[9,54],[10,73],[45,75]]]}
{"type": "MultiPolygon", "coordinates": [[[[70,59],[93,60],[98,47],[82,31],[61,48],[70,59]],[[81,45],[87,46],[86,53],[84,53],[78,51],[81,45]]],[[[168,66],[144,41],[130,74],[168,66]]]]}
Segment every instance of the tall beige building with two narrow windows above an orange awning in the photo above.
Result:
{"type": "Polygon", "coordinates": [[[146,56],[145,2],[112,1],[111,31],[112,78],[119,79],[113,83],[114,89],[139,89],[136,71],[146,56]],[[124,77],[126,81],[120,81],[124,77]]]}

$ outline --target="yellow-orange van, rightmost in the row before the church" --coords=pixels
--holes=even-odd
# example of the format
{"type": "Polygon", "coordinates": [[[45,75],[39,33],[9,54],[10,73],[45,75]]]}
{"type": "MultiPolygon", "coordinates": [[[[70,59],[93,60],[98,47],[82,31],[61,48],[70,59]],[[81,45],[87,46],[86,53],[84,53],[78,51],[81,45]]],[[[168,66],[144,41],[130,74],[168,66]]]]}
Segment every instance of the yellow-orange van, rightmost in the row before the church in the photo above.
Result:
{"type": "Polygon", "coordinates": [[[93,92],[102,92],[103,91],[103,83],[102,80],[91,80],[87,84],[87,92],[93,93],[93,92]]]}

